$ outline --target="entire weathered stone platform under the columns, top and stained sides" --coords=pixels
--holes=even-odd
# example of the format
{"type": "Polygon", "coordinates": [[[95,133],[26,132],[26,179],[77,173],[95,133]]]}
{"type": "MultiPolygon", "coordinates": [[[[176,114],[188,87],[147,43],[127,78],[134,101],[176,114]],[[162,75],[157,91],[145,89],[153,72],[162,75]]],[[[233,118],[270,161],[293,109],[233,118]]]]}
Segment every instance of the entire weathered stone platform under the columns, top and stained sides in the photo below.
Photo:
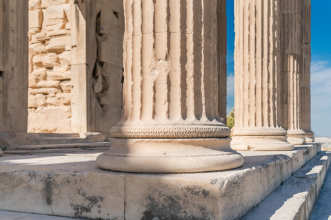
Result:
{"type": "Polygon", "coordinates": [[[0,157],[0,210],[91,219],[237,219],[317,153],[240,152],[240,168],[210,173],[136,174],[101,170],[101,151],[0,157]]]}

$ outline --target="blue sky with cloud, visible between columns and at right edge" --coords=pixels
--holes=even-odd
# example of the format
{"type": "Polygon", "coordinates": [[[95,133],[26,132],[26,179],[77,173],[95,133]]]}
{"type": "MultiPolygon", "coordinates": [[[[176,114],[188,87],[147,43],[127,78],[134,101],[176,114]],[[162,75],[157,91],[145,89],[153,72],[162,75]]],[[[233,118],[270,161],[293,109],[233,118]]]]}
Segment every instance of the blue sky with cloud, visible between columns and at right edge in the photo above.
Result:
{"type": "MultiPolygon", "coordinates": [[[[234,13],[227,1],[228,17],[228,104],[234,107],[234,13]]],[[[331,137],[331,1],[312,0],[312,131],[331,137]]]]}

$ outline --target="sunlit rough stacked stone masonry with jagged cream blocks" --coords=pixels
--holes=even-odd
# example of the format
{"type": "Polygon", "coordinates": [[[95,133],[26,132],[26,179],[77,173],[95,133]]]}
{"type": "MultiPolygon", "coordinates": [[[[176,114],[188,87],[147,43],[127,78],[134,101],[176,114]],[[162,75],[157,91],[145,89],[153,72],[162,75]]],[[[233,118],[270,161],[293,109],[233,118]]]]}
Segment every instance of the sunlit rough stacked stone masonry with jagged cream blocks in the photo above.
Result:
{"type": "Polygon", "coordinates": [[[28,132],[70,133],[70,0],[29,0],[28,132]]]}

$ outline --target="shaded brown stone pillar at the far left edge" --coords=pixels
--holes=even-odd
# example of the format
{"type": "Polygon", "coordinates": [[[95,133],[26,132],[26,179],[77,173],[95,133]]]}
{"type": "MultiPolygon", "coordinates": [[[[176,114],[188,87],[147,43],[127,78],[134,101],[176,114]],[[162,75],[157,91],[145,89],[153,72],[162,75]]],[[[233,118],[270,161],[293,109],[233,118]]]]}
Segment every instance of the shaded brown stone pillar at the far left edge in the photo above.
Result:
{"type": "Polygon", "coordinates": [[[28,0],[0,0],[0,132],[27,129],[28,0]]]}

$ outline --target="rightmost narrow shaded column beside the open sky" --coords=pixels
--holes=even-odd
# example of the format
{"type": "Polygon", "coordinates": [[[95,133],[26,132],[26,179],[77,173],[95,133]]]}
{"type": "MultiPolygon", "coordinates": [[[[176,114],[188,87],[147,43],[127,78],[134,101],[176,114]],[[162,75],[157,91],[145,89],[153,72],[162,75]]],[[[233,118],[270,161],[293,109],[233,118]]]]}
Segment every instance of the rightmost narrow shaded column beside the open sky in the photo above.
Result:
{"type": "Polygon", "coordinates": [[[311,10],[310,0],[301,1],[301,129],[305,131],[305,141],[314,142],[314,132],[311,129],[310,112],[310,61],[311,61],[311,10]]]}

